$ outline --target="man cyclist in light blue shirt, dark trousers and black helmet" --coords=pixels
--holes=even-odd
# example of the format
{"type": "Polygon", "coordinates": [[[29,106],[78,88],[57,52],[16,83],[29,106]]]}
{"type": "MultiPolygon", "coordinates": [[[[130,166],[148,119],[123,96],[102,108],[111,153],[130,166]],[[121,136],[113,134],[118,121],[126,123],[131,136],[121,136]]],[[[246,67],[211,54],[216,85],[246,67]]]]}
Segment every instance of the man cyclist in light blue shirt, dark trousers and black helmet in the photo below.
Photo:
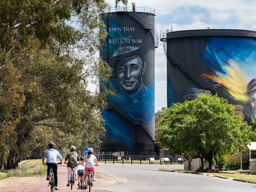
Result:
{"type": "Polygon", "coordinates": [[[55,183],[55,190],[58,190],[58,176],[57,176],[57,158],[60,160],[59,164],[62,164],[62,156],[60,155],[59,151],[54,149],[54,143],[49,143],[49,149],[44,152],[44,155],[42,157],[43,164],[47,165],[47,178],[46,180],[50,179],[50,171],[51,168],[53,168],[53,174],[54,174],[54,183],[55,183]],[[46,163],[44,160],[46,159],[46,163]]]}

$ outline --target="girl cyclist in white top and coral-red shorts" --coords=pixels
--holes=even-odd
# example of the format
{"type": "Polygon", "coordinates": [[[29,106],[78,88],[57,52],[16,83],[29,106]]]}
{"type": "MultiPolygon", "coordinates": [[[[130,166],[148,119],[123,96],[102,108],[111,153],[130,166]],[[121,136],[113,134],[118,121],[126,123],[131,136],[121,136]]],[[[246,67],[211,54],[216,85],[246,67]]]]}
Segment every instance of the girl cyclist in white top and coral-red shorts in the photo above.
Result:
{"type": "MultiPolygon", "coordinates": [[[[95,166],[98,166],[98,161],[95,155],[92,155],[93,149],[92,148],[88,148],[87,149],[87,156],[85,156],[84,160],[82,161],[82,164],[85,164],[85,182],[87,182],[87,177],[88,177],[88,173],[89,173],[89,169],[92,170],[92,176],[93,176],[93,181],[96,181],[96,169],[95,166]],[[95,162],[95,165],[94,165],[95,162]]],[[[84,189],[86,189],[86,185],[84,185],[84,189]]]]}

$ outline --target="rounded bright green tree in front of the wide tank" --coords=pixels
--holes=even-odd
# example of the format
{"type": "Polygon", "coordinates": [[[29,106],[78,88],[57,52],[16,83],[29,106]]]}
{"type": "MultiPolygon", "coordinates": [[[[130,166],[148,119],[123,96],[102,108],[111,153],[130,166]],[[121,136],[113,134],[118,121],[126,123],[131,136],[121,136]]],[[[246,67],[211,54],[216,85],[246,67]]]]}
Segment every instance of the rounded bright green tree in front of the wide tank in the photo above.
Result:
{"type": "Polygon", "coordinates": [[[173,104],[159,122],[160,141],[177,154],[190,153],[209,162],[250,142],[251,127],[235,115],[234,107],[218,95],[201,94],[193,101],[173,104]]]}

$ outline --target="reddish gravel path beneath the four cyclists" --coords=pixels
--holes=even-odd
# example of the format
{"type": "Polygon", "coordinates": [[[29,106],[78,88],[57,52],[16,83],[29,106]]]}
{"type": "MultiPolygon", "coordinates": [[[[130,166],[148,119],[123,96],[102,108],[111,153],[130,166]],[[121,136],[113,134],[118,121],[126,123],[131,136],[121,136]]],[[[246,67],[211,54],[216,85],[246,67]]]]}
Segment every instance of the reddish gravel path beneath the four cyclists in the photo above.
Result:
{"type": "MultiPolygon", "coordinates": [[[[93,182],[93,187],[100,185],[111,185],[116,181],[113,178],[110,179],[110,176],[102,174],[97,171],[96,181],[93,182]],[[111,183],[112,182],[112,183],[111,183]]],[[[46,181],[46,174],[42,177],[10,177],[8,179],[3,179],[0,181],[0,191],[9,192],[9,191],[19,191],[19,192],[49,192],[51,191],[50,187],[47,186],[48,181],[46,181]]],[[[58,191],[64,192],[71,191],[70,187],[67,187],[67,166],[65,164],[58,165],[58,191]]],[[[77,181],[74,185],[77,190],[77,181]]],[[[92,187],[92,192],[108,192],[105,190],[94,190],[92,187]]],[[[72,191],[73,191],[72,190],[72,191]]],[[[89,190],[79,190],[88,192],[89,190]]]]}

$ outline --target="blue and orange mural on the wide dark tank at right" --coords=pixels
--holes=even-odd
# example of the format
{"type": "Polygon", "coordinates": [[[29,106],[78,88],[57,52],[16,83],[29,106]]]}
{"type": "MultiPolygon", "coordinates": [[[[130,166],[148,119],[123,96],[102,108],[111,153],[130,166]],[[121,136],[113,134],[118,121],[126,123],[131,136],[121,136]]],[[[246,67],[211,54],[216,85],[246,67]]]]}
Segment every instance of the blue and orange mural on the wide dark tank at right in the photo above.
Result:
{"type": "Polygon", "coordinates": [[[177,63],[182,71],[181,75],[171,65],[167,66],[168,107],[173,102],[193,100],[198,93],[217,93],[229,103],[242,104],[246,120],[254,121],[256,38],[186,36],[179,40],[170,38],[168,41],[167,47],[179,49],[168,52],[171,58],[169,63],[177,63]],[[186,54],[186,58],[183,54],[186,54]],[[179,83],[175,82],[177,78],[179,83]]]}

